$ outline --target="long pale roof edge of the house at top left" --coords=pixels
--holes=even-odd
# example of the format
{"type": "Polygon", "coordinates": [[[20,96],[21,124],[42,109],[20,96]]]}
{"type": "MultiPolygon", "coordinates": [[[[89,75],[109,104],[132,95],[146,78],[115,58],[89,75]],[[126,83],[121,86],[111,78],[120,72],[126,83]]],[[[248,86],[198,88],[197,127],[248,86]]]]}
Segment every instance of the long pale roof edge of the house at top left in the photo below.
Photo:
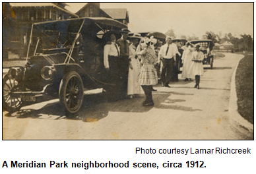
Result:
{"type": "Polygon", "coordinates": [[[65,13],[69,13],[77,18],[79,17],[77,14],[71,13],[67,9],[63,9],[63,8],[55,5],[54,3],[9,3],[9,4],[11,5],[11,7],[54,7],[61,11],[64,11],[65,13]]]}

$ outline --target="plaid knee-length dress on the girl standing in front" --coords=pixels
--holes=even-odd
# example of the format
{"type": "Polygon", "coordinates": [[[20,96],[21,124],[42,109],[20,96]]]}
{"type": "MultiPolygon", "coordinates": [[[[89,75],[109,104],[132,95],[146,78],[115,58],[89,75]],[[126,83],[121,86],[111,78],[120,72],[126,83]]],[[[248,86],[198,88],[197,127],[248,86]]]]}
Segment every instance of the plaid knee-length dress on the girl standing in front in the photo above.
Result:
{"type": "Polygon", "coordinates": [[[158,83],[158,76],[156,69],[154,68],[154,63],[156,53],[151,46],[146,47],[146,53],[142,55],[143,67],[141,67],[141,74],[139,78],[139,83],[141,85],[154,85],[158,83]]]}

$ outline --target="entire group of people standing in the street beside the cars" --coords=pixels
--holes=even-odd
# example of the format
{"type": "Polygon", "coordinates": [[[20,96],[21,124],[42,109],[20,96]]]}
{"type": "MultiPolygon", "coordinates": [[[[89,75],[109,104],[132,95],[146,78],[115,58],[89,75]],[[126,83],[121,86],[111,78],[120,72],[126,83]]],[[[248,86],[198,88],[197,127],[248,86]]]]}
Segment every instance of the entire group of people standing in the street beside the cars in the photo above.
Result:
{"type": "MultiPolygon", "coordinates": [[[[154,36],[148,34],[144,38],[140,34],[129,36],[129,30],[121,30],[121,38],[116,40],[114,32],[108,32],[108,42],[104,46],[104,67],[109,84],[104,86],[104,92],[109,101],[133,98],[144,92],[144,106],[152,106],[152,87],[158,84],[159,69],[162,65],[160,78],[162,86],[168,87],[172,72],[176,66],[176,55],[181,56],[172,38],[166,38],[166,44],[159,47],[154,36]],[[127,42],[129,40],[129,42],[127,42]],[[154,46],[155,45],[155,46],[154,46]],[[160,48],[160,49],[159,49],[160,48]]],[[[203,53],[200,45],[191,44],[183,47],[183,72],[185,80],[195,75],[196,86],[199,88],[200,76],[203,75],[203,53]]]]}

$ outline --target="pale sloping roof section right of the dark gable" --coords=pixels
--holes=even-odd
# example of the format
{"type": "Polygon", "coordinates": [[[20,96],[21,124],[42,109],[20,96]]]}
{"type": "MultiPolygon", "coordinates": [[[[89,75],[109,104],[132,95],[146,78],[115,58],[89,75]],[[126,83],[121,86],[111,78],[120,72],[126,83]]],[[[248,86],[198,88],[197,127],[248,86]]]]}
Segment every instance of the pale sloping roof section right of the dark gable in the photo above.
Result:
{"type": "Polygon", "coordinates": [[[122,22],[123,24],[129,24],[129,13],[127,9],[102,9],[113,19],[122,22]]]}

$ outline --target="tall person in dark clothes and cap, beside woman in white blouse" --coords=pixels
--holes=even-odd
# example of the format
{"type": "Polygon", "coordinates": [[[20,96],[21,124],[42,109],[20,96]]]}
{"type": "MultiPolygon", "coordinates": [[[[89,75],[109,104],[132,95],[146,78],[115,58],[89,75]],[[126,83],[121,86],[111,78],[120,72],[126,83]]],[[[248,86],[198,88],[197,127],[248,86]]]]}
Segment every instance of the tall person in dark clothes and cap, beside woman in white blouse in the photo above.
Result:
{"type": "Polygon", "coordinates": [[[129,43],[127,42],[128,33],[130,31],[127,28],[121,30],[121,38],[117,40],[117,45],[120,47],[119,56],[119,76],[121,78],[119,84],[120,100],[127,98],[127,86],[128,86],[128,72],[129,72],[129,43]]]}

